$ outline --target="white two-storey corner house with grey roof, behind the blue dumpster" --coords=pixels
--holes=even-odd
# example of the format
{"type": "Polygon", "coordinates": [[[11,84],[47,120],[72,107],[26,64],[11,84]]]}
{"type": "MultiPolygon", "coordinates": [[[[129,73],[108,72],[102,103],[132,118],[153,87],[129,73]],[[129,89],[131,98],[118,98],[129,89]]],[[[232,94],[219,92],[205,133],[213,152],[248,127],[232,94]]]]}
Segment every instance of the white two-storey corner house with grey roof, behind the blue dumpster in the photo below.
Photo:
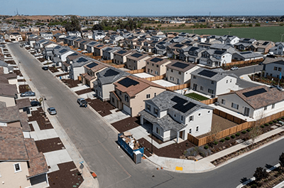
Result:
{"type": "Polygon", "coordinates": [[[168,90],[151,100],[145,100],[145,110],[139,114],[141,125],[151,124],[151,132],[163,142],[187,140],[211,131],[214,108],[197,100],[168,90]],[[167,101],[167,103],[165,103],[167,101]]]}

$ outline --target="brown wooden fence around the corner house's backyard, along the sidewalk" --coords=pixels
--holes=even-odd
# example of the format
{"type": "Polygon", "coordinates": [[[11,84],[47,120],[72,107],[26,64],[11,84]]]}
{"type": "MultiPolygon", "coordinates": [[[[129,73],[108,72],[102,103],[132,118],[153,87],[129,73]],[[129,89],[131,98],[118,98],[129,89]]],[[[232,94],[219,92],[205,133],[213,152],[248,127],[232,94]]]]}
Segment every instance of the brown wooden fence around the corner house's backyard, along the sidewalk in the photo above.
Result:
{"type": "Polygon", "coordinates": [[[253,122],[245,122],[244,120],[241,120],[238,117],[234,117],[233,115],[229,115],[229,114],[224,113],[224,112],[217,110],[217,109],[214,110],[214,114],[220,115],[220,116],[222,116],[222,117],[224,117],[228,120],[234,121],[236,123],[241,122],[241,124],[236,125],[234,127],[230,127],[226,130],[222,130],[219,133],[217,133],[217,135],[209,135],[209,136],[206,136],[206,137],[197,138],[197,137],[194,137],[194,136],[188,134],[187,140],[189,140],[190,142],[192,142],[193,144],[195,144],[197,146],[206,145],[207,143],[214,141],[214,139],[220,139],[222,137],[227,137],[227,136],[232,135],[236,132],[240,132],[241,130],[246,130],[249,127],[253,127],[254,125],[256,125],[258,123],[259,123],[258,125],[263,125],[264,123],[271,122],[272,120],[283,117],[284,111],[282,111],[280,113],[276,113],[274,115],[270,115],[268,117],[263,117],[261,120],[253,121],[253,122]]]}

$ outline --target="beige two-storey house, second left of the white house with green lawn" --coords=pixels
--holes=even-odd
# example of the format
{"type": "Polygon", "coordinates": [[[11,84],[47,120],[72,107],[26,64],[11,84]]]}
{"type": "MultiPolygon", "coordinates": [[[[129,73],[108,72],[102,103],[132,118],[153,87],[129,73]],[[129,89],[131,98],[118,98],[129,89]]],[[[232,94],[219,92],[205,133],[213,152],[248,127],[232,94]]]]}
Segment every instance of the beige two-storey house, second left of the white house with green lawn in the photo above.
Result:
{"type": "Polygon", "coordinates": [[[146,60],[146,73],[157,76],[166,73],[166,66],[171,63],[165,58],[152,57],[146,60]]]}

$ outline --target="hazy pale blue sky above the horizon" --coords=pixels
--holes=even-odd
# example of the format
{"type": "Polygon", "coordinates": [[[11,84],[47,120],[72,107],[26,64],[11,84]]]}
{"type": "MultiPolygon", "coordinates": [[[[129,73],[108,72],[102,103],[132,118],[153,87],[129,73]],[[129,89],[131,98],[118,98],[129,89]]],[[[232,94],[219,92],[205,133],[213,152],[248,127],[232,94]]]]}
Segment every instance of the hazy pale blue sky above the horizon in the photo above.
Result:
{"type": "Polygon", "coordinates": [[[284,15],[284,0],[0,0],[0,14],[79,16],[284,15]]]}

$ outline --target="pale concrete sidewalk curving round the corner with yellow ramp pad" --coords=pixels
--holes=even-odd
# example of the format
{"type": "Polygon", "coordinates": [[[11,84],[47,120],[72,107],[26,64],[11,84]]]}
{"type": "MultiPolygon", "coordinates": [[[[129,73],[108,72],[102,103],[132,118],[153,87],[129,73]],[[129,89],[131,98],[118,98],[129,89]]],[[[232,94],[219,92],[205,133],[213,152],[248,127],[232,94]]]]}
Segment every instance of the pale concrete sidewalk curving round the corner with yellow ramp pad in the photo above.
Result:
{"type": "MultiPolygon", "coordinates": [[[[279,132],[284,131],[284,127],[278,127],[275,130],[271,130],[270,132],[266,132],[263,135],[260,135],[256,138],[254,142],[259,142],[261,140],[266,139],[267,137],[271,137],[272,135],[275,135],[279,132]]],[[[283,139],[284,137],[280,137],[276,140],[273,140],[271,142],[268,142],[266,145],[261,145],[261,147],[256,148],[255,150],[251,150],[249,152],[246,152],[242,155],[239,155],[237,157],[232,158],[231,160],[228,160],[224,162],[223,164],[220,164],[218,166],[214,166],[211,162],[214,160],[217,160],[220,157],[224,157],[225,155],[229,155],[232,152],[236,152],[237,150],[241,150],[244,147],[247,147],[251,144],[251,140],[247,140],[246,142],[242,142],[241,144],[234,145],[233,147],[229,147],[226,150],[222,150],[221,152],[217,152],[216,154],[209,155],[208,157],[204,157],[201,160],[198,160],[197,162],[193,160],[180,160],[180,159],[174,159],[174,158],[168,158],[168,157],[158,157],[157,155],[153,155],[151,157],[148,157],[148,160],[155,163],[159,167],[163,167],[164,169],[173,171],[173,172],[182,172],[182,173],[201,173],[201,172],[208,172],[213,169],[217,169],[219,167],[222,167],[229,162],[233,162],[234,160],[238,160],[241,157],[244,157],[246,155],[249,155],[251,152],[255,152],[256,150],[260,150],[263,147],[266,147],[268,145],[271,145],[273,142],[277,142],[278,140],[283,139]]]]}

